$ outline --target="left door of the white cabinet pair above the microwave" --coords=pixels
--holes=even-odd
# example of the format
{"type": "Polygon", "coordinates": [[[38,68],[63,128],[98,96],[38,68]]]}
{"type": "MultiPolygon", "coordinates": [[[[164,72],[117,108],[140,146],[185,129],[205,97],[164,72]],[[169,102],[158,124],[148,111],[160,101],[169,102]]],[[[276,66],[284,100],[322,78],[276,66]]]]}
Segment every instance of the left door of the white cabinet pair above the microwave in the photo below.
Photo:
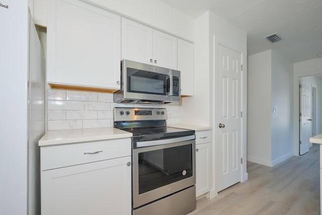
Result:
{"type": "Polygon", "coordinates": [[[122,59],[152,64],[152,28],[122,18],[122,59]]]}

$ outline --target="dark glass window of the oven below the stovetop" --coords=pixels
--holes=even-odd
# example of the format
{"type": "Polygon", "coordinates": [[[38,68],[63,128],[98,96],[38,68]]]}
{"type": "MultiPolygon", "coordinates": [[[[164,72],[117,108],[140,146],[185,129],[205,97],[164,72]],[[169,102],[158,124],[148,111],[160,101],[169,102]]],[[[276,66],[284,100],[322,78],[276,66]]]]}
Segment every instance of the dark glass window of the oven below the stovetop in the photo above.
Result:
{"type": "Polygon", "coordinates": [[[139,153],[139,194],[193,176],[192,144],[139,153]]]}

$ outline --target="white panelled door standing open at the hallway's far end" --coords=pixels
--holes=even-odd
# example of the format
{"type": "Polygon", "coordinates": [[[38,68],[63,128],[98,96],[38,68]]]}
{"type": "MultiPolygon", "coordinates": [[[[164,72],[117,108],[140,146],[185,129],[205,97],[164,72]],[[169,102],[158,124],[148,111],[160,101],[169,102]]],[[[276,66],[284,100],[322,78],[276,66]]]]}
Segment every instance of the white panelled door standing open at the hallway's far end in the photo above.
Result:
{"type": "Polygon", "coordinates": [[[300,155],[309,151],[312,134],[311,85],[300,80],[300,155]]]}

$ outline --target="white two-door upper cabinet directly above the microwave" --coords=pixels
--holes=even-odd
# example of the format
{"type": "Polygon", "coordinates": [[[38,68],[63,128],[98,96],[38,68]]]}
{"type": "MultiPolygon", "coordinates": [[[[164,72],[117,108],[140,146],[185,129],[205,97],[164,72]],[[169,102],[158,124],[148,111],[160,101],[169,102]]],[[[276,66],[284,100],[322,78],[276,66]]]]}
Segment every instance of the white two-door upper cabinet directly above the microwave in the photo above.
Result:
{"type": "Polygon", "coordinates": [[[177,69],[177,38],[122,18],[122,59],[177,69]]]}

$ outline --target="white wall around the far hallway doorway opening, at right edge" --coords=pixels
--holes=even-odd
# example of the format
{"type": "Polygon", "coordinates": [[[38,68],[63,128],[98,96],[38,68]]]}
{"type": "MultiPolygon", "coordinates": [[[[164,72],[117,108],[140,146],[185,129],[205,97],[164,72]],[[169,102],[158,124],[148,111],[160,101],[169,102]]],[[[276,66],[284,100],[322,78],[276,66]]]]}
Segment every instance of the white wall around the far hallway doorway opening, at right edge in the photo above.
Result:
{"type": "MultiPolygon", "coordinates": [[[[299,113],[299,84],[298,79],[305,76],[313,76],[322,73],[322,58],[314,58],[294,63],[293,76],[293,118],[298,118],[299,113]]],[[[297,120],[293,121],[293,155],[299,155],[299,123],[297,120]]]]}

